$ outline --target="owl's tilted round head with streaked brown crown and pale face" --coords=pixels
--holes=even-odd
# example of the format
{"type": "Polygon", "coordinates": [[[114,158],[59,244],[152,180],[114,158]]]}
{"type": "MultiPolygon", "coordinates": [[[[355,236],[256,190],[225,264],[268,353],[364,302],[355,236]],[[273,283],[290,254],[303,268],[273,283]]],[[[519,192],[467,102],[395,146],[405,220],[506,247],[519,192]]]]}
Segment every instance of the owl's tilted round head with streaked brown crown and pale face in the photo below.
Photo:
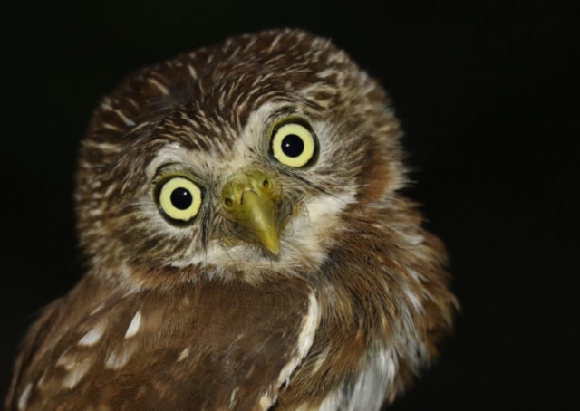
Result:
{"type": "Polygon", "coordinates": [[[126,267],[141,282],[313,270],[401,186],[384,99],[344,53],[301,32],[140,72],[83,142],[82,246],[97,270],[126,267]]]}

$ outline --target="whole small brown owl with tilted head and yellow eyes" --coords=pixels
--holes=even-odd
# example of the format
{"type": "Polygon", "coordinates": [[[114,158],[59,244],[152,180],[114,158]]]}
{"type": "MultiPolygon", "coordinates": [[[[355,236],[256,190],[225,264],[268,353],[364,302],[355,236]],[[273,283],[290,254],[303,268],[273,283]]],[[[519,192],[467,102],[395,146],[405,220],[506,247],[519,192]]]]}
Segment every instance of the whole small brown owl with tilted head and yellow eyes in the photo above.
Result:
{"type": "Polygon", "coordinates": [[[458,308],[400,138],[377,81],[303,31],[129,76],[82,140],[87,271],[29,330],[6,409],[391,402],[458,308]]]}

